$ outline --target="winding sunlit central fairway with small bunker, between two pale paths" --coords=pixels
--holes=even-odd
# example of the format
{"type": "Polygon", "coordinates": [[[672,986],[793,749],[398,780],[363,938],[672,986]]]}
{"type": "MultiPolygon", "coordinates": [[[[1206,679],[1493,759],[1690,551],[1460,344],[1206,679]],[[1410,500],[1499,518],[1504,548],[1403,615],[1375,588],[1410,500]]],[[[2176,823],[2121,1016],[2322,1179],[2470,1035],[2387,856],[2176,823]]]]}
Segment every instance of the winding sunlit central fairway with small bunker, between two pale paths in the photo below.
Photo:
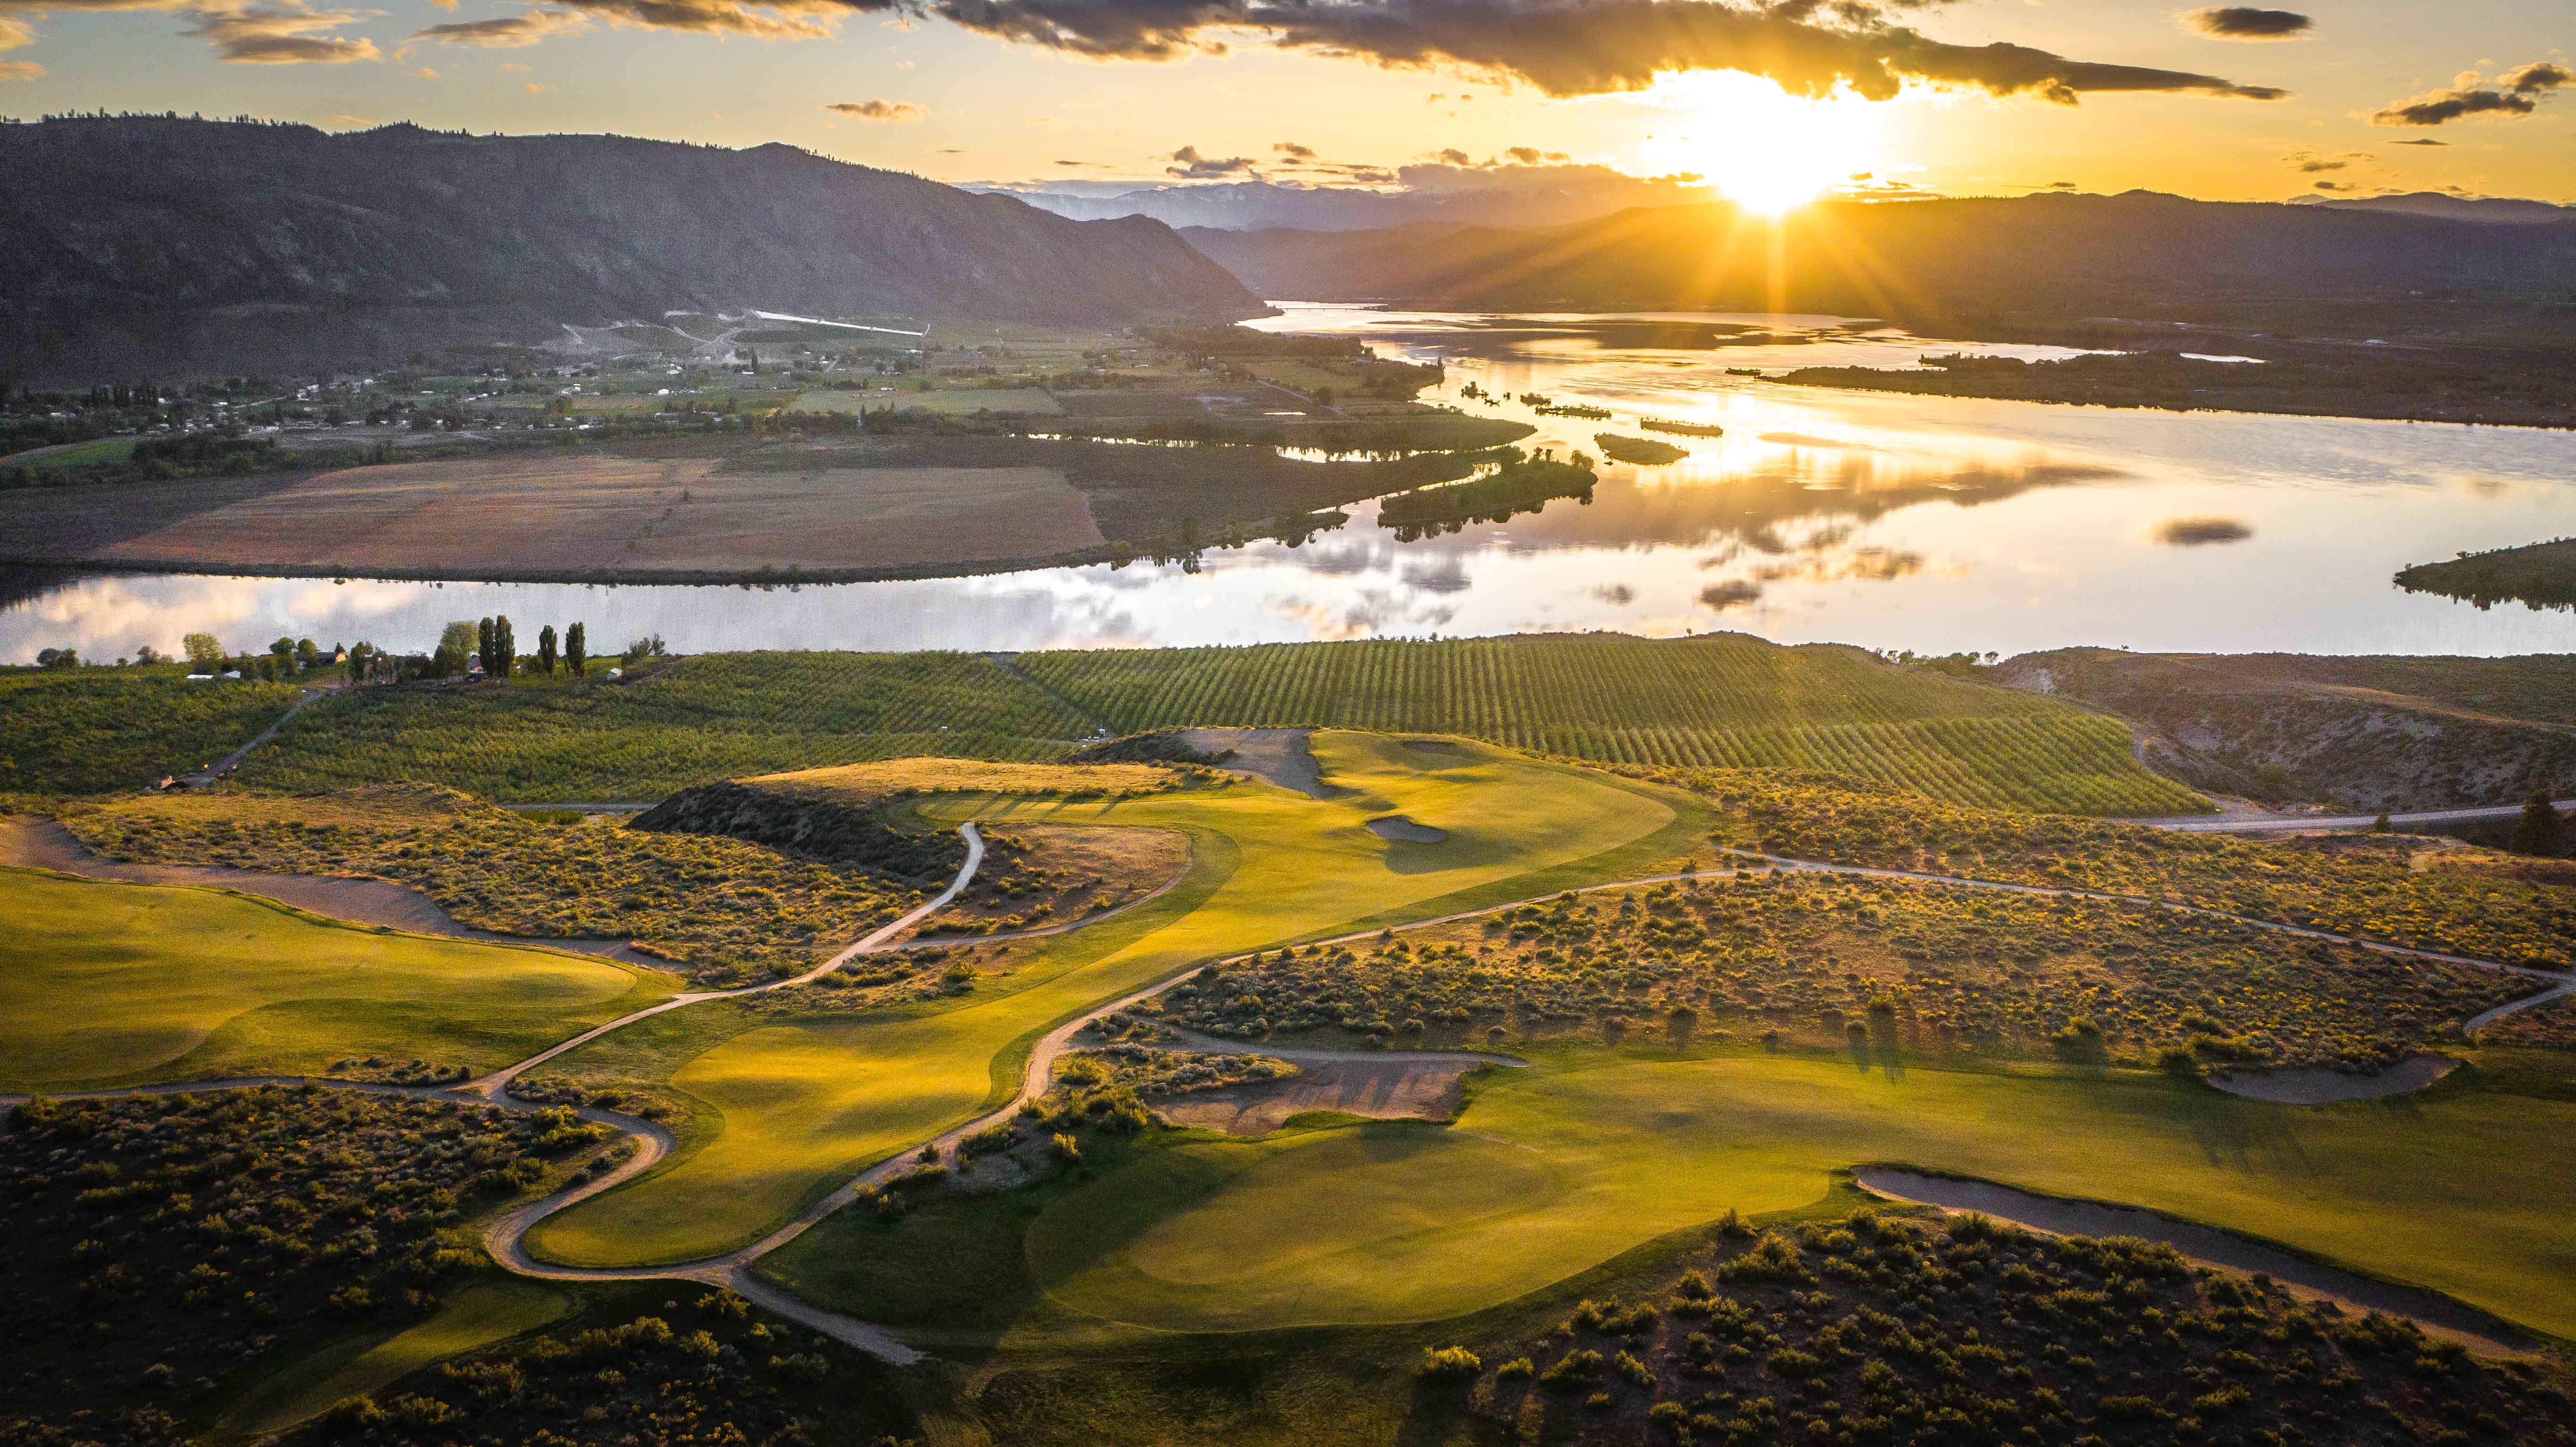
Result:
{"type": "MultiPolygon", "coordinates": [[[[698,1125],[672,1164],[528,1233],[538,1256],[657,1264],[757,1238],[871,1161],[917,1146],[1018,1089],[1028,1043],[1090,1007],[1198,960],[1355,927],[1422,919],[1571,883],[1643,873],[1703,829],[1687,798],[1479,744],[1319,734],[1340,798],[1231,783],[1123,801],[940,798],[938,819],[1180,829],[1185,881],[1136,914],[1077,929],[1007,978],[935,1014],[809,1020],[721,1040],[667,1081],[698,1125]],[[1388,842],[1381,814],[1448,829],[1388,842]]],[[[611,1035],[567,1058],[613,1069],[654,1035],[611,1035]]]]}

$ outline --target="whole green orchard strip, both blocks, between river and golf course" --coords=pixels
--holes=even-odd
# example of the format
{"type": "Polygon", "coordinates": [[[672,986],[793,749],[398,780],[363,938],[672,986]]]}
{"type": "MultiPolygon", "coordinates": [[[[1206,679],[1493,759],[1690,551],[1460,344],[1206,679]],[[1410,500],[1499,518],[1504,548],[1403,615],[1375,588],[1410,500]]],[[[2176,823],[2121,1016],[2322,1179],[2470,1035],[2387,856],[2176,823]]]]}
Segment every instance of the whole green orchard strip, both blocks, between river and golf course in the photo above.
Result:
{"type": "Polygon", "coordinates": [[[909,754],[1054,760],[1167,726],[1458,734],[1610,765],[1811,767],[1945,803],[2192,814],[2128,734],[2066,703],[1747,636],[1020,654],[708,654],[621,685],[363,690],[296,716],[237,780],[420,780],[497,801],[654,801],[693,783],[909,754]]]}

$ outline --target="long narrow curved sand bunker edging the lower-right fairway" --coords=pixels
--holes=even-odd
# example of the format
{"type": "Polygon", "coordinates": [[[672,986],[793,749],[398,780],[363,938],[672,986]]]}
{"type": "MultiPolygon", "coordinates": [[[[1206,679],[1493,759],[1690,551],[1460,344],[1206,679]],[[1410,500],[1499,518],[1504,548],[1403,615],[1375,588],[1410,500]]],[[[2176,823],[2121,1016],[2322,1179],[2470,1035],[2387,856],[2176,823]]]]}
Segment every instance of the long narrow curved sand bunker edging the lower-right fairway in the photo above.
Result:
{"type": "Polygon", "coordinates": [[[2099,1205],[2089,1200],[2061,1200],[1999,1187],[1994,1182],[1960,1182],[1950,1177],[1924,1177],[1893,1166],[1860,1166],[1852,1172],[1865,1190],[1896,1200],[1940,1205],[1945,1210],[1976,1210],[1996,1220],[2012,1220],[2053,1236],[2138,1236],[2164,1241],[2195,1262],[2228,1267],[2233,1272],[2262,1272],[2303,1295],[2334,1298],[2362,1311],[2409,1316],[2427,1331],[2478,1347],[2486,1352],[2530,1352],[2532,1341],[2483,1311],[2419,1287],[2378,1282],[2354,1272],[2326,1267],[2306,1256],[2293,1256],[2280,1246],[2249,1241],[2215,1226],[2195,1226],[2138,1210],[2128,1205],[2099,1205]]]}

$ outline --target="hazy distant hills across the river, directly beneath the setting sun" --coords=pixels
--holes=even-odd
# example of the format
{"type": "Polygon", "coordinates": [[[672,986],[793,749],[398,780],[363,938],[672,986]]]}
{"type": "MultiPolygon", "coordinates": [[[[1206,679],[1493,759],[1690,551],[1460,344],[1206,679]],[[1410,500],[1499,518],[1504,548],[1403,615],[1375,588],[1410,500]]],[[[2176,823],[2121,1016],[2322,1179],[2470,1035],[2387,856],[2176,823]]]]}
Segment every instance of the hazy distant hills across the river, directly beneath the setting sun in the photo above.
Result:
{"type": "Polygon", "coordinates": [[[2154,193],[1829,203],[1777,224],[1734,206],[1662,206],[1546,229],[1182,234],[1273,299],[1834,312],[1947,327],[1999,314],[2331,327],[2354,322],[2354,309],[2380,322],[2383,299],[2388,319],[2414,330],[2455,327],[2463,304],[2486,317],[2506,299],[2566,317],[2576,268],[2576,221],[2491,227],[2154,193]],[[2416,296],[2403,314],[2396,304],[2419,291],[2434,299],[2416,296]]]}

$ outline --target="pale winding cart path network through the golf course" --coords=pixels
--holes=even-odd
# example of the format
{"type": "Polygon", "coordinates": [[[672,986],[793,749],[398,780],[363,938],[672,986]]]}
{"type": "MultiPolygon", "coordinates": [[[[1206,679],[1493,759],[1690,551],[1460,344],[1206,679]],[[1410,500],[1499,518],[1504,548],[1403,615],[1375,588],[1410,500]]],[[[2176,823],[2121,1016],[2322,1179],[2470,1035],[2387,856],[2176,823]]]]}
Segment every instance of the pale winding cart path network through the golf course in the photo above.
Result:
{"type": "MultiPolygon", "coordinates": [[[[912,909],[902,919],[894,919],[894,922],[878,927],[876,932],[860,937],[858,942],[853,942],[850,948],[840,950],[837,955],[832,955],[822,966],[814,966],[811,971],[804,971],[801,976],[791,976],[791,978],[770,981],[770,984],[760,984],[760,986],[732,989],[732,991],[693,991],[693,994],[672,996],[672,999],[667,999],[662,1004],[649,1007],[649,1009],[639,1009],[634,1014],[611,1020],[608,1025],[598,1025],[592,1030],[585,1030],[585,1032],[580,1032],[580,1035],[574,1035],[574,1038],[569,1038],[569,1040],[564,1040],[559,1045],[551,1045],[551,1048],[546,1048],[546,1050],[541,1050],[541,1053],[536,1053],[536,1056],[531,1056],[526,1061],[518,1061],[513,1066],[502,1066],[500,1071],[492,1071],[492,1074],[479,1076],[474,1081],[466,1081],[461,1087],[446,1087],[446,1089],[440,1089],[440,1087],[386,1087],[386,1084],[366,1084],[366,1081],[327,1081],[327,1079],[307,1081],[307,1079],[299,1079],[299,1076],[258,1076],[258,1079],[227,1079],[227,1081],[160,1084],[160,1087],[129,1087],[129,1089],[111,1089],[111,1092],[85,1092],[85,1097],[95,1099],[95,1097],[131,1097],[131,1094],[175,1094],[175,1092],[191,1092],[191,1089],[240,1089],[240,1087],[255,1087],[255,1084],[327,1084],[327,1087],[337,1087],[337,1089],[363,1089],[363,1092],[376,1092],[376,1094],[412,1094],[412,1097],[422,1097],[422,1099],[451,1099],[451,1102],[453,1099],[469,1099],[469,1102],[495,1105],[495,1107],[505,1107],[505,1110],[544,1110],[541,1102],[513,1099],[507,1094],[507,1084],[515,1081],[520,1074],[526,1074],[526,1071],[531,1071],[531,1069],[536,1069],[536,1066],[541,1066],[541,1063],[546,1063],[546,1061],[551,1061],[551,1058],[556,1058],[556,1056],[562,1056],[562,1053],[567,1053],[567,1050],[572,1050],[577,1045],[598,1040],[600,1035],[608,1035],[613,1030],[634,1025],[636,1020],[649,1020],[654,1014],[662,1014],[662,1012],[670,1012],[670,1009],[680,1009],[680,1007],[688,1007],[688,1004],[698,1004],[698,1002],[706,1002],[706,999],[732,999],[732,996],[742,996],[742,994],[762,994],[762,991],[770,991],[770,989],[799,986],[799,984],[806,984],[806,981],[814,981],[814,978],[822,978],[822,976],[837,971],[840,966],[845,966],[848,960],[853,960],[858,955],[889,948],[889,940],[894,940],[896,935],[902,935],[907,927],[917,924],[920,919],[930,917],[933,911],[943,909],[948,901],[953,901],[974,881],[974,873],[976,873],[976,868],[984,860],[984,839],[981,839],[981,834],[976,832],[974,824],[961,824],[958,834],[963,834],[966,845],[969,845],[966,863],[958,870],[958,878],[945,891],[940,891],[935,899],[925,901],[920,909],[912,909]]],[[[2277,924],[2277,922],[2267,922],[2267,919],[2249,919],[2249,917],[2228,914],[2228,911],[2218,911],[2218,909],[2202,909],[2202,906],[2190,906],[2190,904],[2169,904],[2169,901],[2143,899],[2143,896],[2123,896],[2123,893],[2102,893],[2102,891],[2081,891],[2081,888],[2056,888],[2056,886],[2027,886],[2027,883],[2004,883],[2004,881],[1978,881],[1978,878],[1960,878],[1960,875],[1932,875],[1932,873],[1914,873],[1914,870],[1883,870],[1883,868],[1865,868],[1865,865],[1832,865],[1832,863],[1816,863],[1816,860],[1790,860],[1790,857],[1777,857],[1777,855],[1757,855],[1757,852],[1744,852],[1744,850],[1728,850],[1728,852],[1739,855],[1739,857],[1747,857],[1747,860],[1757,860],[1762,865],[1770,865],[1777,873],[1837,873],[1837,875],[1857,875],[1857,878],[1878,878],[1878,881],[1899,881],[1899,883],[1922,883],[1922,886],[1945,886],[1945,888],[1986,888],[1986,891],[2025,893],[2025,896],[2040,896],[2040,899],[2099,899],[2099,901],[2117,901],[2117,904],[2159,906],[2159,909],[2172,909],[2177,914],[2200,914],[2200,917],[2210,917],[2210,919],[2226,919],[2226,922],[2233,922],[2233,924],[2241,924],[2241,927],[2249,927],[2249,929],[2267,929],[2267,932],[2275,932],[2275,935],[2290,935],[2290,937],[2303,937],[2303,940],[2329,940],[2329,942],[2357,945],[2357,948],[2365,948],[2365,950],[2378,950],[2378,953],[2398,955],[2398,958],[2419,958],[2419,960],[2437,960],[2437,963],[2452,963],[2452,966],[2509,971],[2509,973],[2519,973],[2519,976],[2532,976],[2532,978],[2553,981],[2553,989],[2535,991],[2535,994],[2530,994],[2524,999],[2517,999],[2517,1002],[2509,1002],[2509,1004],[2501,1004],[2496,1009],[2488,1009],[2488,1012],[2478,1014],[2470,1022],[2470,1027],[2486,1025],[2486,1022],[2499,1020],[2504,1014],[2512,1014],[2517,1009],[2527,1009],[2532,1004],[2540,1004],[2540,1002],[2548,1002],[2548,999],[2558,999],[2558,996],[2566,996],[2566,994],[2576,991],[2576,973],[2555,973],[2555,971],[2543,971],[2543,968],[2535,968],[2535,966],[2512,966],[2512,963],[2501,963],[2501,960],[2481,960],[2481,958],[2470,958],[2470,955],[2450,955],[2450,953],[2439,953],[2439,950],[2419,950],[2419,948],[2409,948],[2409,945],[2391,945],[2391,942],[2365,940],[2365,937],[2354,937],[2354,935],[2336,935],[2336,932],[2329,932],[2329,929],[2311,929],[2311,927],[2298,927],[2298,924],[2277,924]]],[[[1628,881],[1610,881],[1610,883],[1582,886],[1582,888],[1574,888],[1574,891],[1546,891],[1546,893],[1538,893],[1538,896],[1530,896],[1530,899],[1517,899],[1517,901],[1507,901],[1507,904],[1492,904],[1492,906],[1484,906],[1484,909],[1466,909],[1466,911],[1443,914],[1443,917],[1435,917],[1435,919],[1419,919],[1419,922],[1406,924],[1406,929],[1419,929],[1419,927],[1430,927],[1430,924],[1445,924],[1445,922],[1458,922],[1458,919],[1479,919],[1479,917],[1489,917],[1489,914],[1502,914],[1507,909],[1520,909],[1525,904],[1556,899],[1556,896],[1564,896],[1564,893],[1600,893],[1600,891],[1641,888],[1641,886],[1656,886],[1656,883],[1726,883],[1731,878],[1739,878],[1739,875],[1710,875],[1710,873],[1703,873],[1703,870],[1687,870],[1687,873],[1662,873],[1662,875],[1643,875],[1643,878],[1628,878],[1628,881]]],[[[1167,883],[1164,888],[1172,888],[1172,886],[1167,883]]],[[[1157,893],[1162,893],[1162,891],[1157,891],[1157,893]]],[[[1146,899],[1151,899],[1151,896],[1146,896],[1146,899]]],[[[1144,904],[1144,899],[1139,899],[1133,904],[1144,904]]],[[[1118,914],[1118,911],[1110,911],[1110,914],[1118,914]]],[[[1074,927],[1092,924],[1092,922],[1100,922],[1100,919],[1108,919],[1108,914],[1087,919],[1087,922],[1051,927],[1048,932],[1064,932],[1064,929],[1074,929],[1074,927]]],[[[1360,932],[1350,932],[1350,935],[1314,940],[1314,945],[1337,945],[1337,942],[1352,942],[1352,940],[1370,940],[1376,935],[1381,935],[1381,929],[1360,929],[1360,932]]],[[[891,945],[891,948],[902,948],[902,945],[891,945]]],[[[1252,953],[1260,953],[1260,950],[1252,950],[1252,953]]],[[[855,1347],[860,1352],[876,1354],[876,1357],[881,1357],[886,1362],[894,1362],[894,1365],[920,1362],[922,1352],[902,1344],[884,1326],[876,1326],[876,1323],[868,1323],[868,1321],[858,1321],[858,1318],[850,1318],[850,1316],[840,1316],[840,1313],[832,1313],[832,1311],[822,1311],[822,1308],[817,1308],[811,1303],[804,1303],[801,1298],[793,1298],[791,1293],[783,1293],[783,1290],[762,1282],[760,1277],[755,1277],[752,1274],[752,1264],[760,1256],[765,1256],[765,1254],[786,1246],[788,1241],[804,1236],[814,1223],[824,1220],[827,1215],[832,1215],[842,1205],[850,1205],[863,1192],[884,1187],[894,1177],[907,1174],[912,1169],[914,1159],[920,1159],[925,1151],[935,1151],[938,1156],[953,1159],[958,1143],[963,1143],[976,1130],[987,1130],[992,1125],[1002,1125],[1002,1123],[1010,1123],[1012,1117],[1018,1117],[1018,1112],[1020,1112],[1020,1107],[1025,1102],[1030,1102],[1030,1099],[1036,1099],[1038,1094],[1046,1092],[1046,1087],[1048,1087],[1048,1081],[1054,1076],[1056,1061],[1072,1048],[1072,1040],[1074,1040],[1074,1035],[1082,1027],[1087,1027],[1095,1020],[1103,1020],[1108,1014],[1131,1009],[1131,1007],[1141,1004],[1144,999],[1151,999],[1154,994],[1162,994],[1164,989],[1172,989],[1175,984],[1180,984],[1180,981],[1200,973],[1208,966],[1236,963],[1236,960],[1249,958],[1252,953],[1236,953],[1236,955],[1226,955],[1221,960],[1193,963],[1188,968],[1172,971],[1170,976],[1164,976],[1164,978],[1159,978],[1154,984],[1146,984],[1146,986],[1141,986],[1136,991],[1121,994],[1118,999],[1110,999],[1105,1004],[1097,1004],[1097,1007],[1090,1007],[1090,1009],[1082,1009],[1082,1012],[1066,1017],[1064,1022],[1059,1022],[1056,1027],[1051,1027],[1046,1035],[1041,1035],[1036,1040],[1036,1045],[1028,1053],[1028,1063],[1020,1071],[1020,1089],[999,1110],[984,1112],[984,1115],[979,1115],[979,1117],[974,1117],[974,1120],[969,1120],[963,1125],[953,1125],[953,1128],[943,1130],[940,1135],[930,1138],[925,1146],[914,1146],[914,1148],[896,1151],[896,1153],[886,1156],[876,1166],[868,1166],[866,1172],[860,1172],[853,1179],[848,1179],[840,1190],[835,1190],[832,1195],[827,1195],[824,1200],[819,1200],[814,1208],[804,1210],[801,1215],[796,1215],[786,1226],[770,1231],[768,1236],[762,1236],[762,1238],[757,1238],[757,1241],[752,1241],[747,1246],[726,1251],[721,1256],[706,1256],[706,1259],[696,1259],[696,1262],[652,1264],[652,1267],[559,1267],[559,1264],[551,1264],[551,1262],[538,1262],[536,1256],[531,1256],[526,1251],[526,1233],[538,1220],[546,1220],[549,1215],[554,1215],[554,1213],[559,1213],[564,1208],[572,1208],[572,1205],[577,1205],[582,1200],[590,1200],[590,1197],[595,1197],[600,1192],[616,1190],[618,1184],[626,1184],[626,1182],[636,1179],[639,1174],[649,1172],[657,1161],[662,1161],[672,1151],[672,1135],[670,1135],[670,1130],[654,1125],[649,1120],[639,1120],[639,1117],[629,1117],[629,1115],[618,1115],[618,1112],[605,1112],[605,1110],[590,1110],[590,1107],[577,1110],[577,1115],[582,1120],[592,1120],[592,1123],[608,1125],[613,1130],[623,1130],[626,1135],[631,1135],[636,1141],[636,1151],[623,1164],[618,1164],[616,1169],[611,1169],[603,1177],[595,1177],[590,1182],[577,1182],[577,1184],[564,1187],[564,1190],[559,1190],[554,1195],[546,1195],[541,1200],[523,1202],[523,1205],[513,1208],[510,1213],[505,1213],[502,1218],[497,1218],[492,1226],[487,1226],[484,1244],[489,1246],[492,1256],[502,1267],[507,1267],[507,1269],[513,1269],[518,1274],[526,1274],[526,1277],[536,1277],[536,1280],[559,1280],[559,1282],[688,1280],[688,1282],[703,1282],[703,1285],[729,1287],[729,1290],[734,1290],[734,1293],[739,1293],[739,1295],[744,1295],[744,1298],[750,1298],[750,1300],[755,1300],[755,1303],[775,1311],[778,1316],[786,1316],[788,1321],[796,1321],[796,1323],[804,1323],[804,1326],[809,1326],[814,1331],[835,1336],[835,1339],[840,1339],[840,1341],[845,1341],[845,1344],[850,1344],[850,1347],[855,1347]]],[[[1319,1048],[1267,1048],[1267,1045],[1257,1048],[1257,1045],[1234,1043],[1234,1040],[1216,1040],[1216,1038],[1206,1038],[1206,1035],[1195,1035],[1195,1032],[1182,1032],[1182,1040],[1190,1043],[1193,1048],[1200,1048],[1200,1050],[1221,1050],[1221,1053],[1252,1053],[1252,1050],[1257,1050],[1257,1053],[1270,1053],[1270,1056],[1288,1058],[1288,1061],[1316,1061],[1316,1063],[1321,1063],[1321,1061],[1404,1061],[1404,1058],[1422,1056],[1427,1061],[1430,1058],[1437,1058],[1437,1061],[1473,1058],[1479,1063],[1494,1063],[1494,1066],[1525,1066],[1525,1061],[1517,1061],[1517,1058],[1510,1058],[1510,1056],[1492,1056],[1492,1053],[1473,1053],[1473,1050],[1319,1050],[1319,1048]]],[[[0,1097],[0,1105],[8,1105],[10,1099],[15,1099],[15,1097],[0,1097]]]]}

